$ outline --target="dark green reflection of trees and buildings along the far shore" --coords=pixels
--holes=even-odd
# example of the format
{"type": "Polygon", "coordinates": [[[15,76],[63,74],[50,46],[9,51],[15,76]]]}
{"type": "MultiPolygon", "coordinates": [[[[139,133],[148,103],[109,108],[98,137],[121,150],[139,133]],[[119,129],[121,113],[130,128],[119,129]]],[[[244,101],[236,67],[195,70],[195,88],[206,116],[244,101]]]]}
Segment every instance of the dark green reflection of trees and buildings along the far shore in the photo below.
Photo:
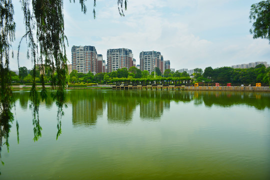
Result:
{"type": "MultiPolygon", "coordinates": [[[[19,100],[22,109],[28,105],[29,92],[15,92],[14,99],[19,100]]],[[[72,106],[72,124],[74,126],[94,126],[98,117],[106,109],[109,123],[129,123],[134,111],[139,109],[143,120],[158,120],[171,102],[193,103],[194,105],[213,105],[230,107],[248,105],[262,110],[270,108],[270,93],[226,92],[226,91],[161,91],[161,90],[68,90],[68,106],[72,106]]],[[[45,103],[51,108],[53,100],[49,97],[45,103]]]]}

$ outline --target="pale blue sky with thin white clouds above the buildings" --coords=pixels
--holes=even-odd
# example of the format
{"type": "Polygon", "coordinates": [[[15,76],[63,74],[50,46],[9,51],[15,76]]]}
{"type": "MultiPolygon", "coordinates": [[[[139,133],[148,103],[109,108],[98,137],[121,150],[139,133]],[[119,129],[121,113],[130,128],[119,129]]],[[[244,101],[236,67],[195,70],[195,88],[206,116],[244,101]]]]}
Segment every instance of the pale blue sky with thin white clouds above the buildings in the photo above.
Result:
{"type": "MultiPolygon", "coordinates": [[[[253,39],[249,29],[250,6],[260,0],[128,0],[120,16],[117,0],[87,0],[81,12],[78,0],[63,0],[67,58],[71,63],[72,45],[95,46],[106,60],[109,48],[132,50],[136,64],[141,51],[159,51],[170,68],[194,69],[231,66],[255,61],[270,63],[267,39],[253,39]]],[[[13,0],[16,22],[14,54],[25,32],[19,0],[13,0]]],[[[26,42],[21,42],[19,66],[32,67],[26,58],[26,42]]],[[[15,55],[16,56],[16,55],[15,55]]],[[[16,57],[10,69],[17,69],[16,57]]]]}

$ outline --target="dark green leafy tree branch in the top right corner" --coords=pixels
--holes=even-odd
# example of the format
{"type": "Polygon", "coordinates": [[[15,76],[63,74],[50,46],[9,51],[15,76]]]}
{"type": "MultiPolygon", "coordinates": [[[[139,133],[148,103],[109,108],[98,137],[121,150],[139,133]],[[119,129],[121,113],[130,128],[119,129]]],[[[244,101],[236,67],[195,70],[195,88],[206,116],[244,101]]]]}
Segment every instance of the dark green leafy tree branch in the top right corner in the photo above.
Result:
{"type": "Polygon", "coordinates": [[[250,22],[253,21],[252,27],[249,29],[253,38],[265,38],[270,43],[270,0],[252,4],[249,19],[250,22]]]}

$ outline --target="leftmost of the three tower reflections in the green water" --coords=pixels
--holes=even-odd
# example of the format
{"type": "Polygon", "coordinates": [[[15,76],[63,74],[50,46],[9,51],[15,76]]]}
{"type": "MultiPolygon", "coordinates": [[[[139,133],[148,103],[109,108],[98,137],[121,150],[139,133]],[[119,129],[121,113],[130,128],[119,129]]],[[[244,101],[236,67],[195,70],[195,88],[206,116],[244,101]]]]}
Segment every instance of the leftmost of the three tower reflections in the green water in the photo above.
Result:
{"type": "Polygon", "coordinates": [[[102,100],[80,99],[72,103],[73,125],[95,125],[97,117],[103,114],[102,100]]]}

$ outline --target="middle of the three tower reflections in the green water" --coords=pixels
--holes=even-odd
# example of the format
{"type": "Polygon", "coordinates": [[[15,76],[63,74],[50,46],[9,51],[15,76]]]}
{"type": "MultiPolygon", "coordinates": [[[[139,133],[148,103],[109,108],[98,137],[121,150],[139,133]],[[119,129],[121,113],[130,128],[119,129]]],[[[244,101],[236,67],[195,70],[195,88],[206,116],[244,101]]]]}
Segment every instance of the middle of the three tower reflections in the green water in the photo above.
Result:
{"type": "Polygon", "coordinates": [[[111,123],[127,123],[131,122],[133,111],[135,109],[134,103],[123,103],[107,101],[107,118],[111,123]]]}

